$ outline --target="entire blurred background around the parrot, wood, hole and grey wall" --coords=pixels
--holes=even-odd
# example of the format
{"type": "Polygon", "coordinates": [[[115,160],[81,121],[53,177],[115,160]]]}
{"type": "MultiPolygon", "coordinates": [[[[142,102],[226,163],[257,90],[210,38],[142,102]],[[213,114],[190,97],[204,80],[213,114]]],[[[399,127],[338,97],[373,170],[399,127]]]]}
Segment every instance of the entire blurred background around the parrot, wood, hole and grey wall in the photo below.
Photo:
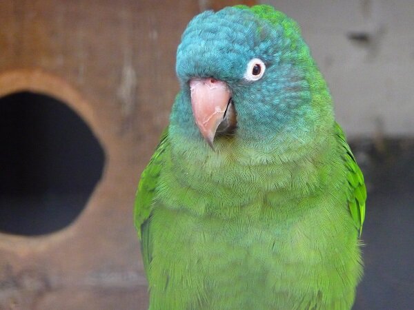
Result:
{"type": "Polygon", "coordinates": [[[302,27],[368,187],[354,309],[414,309],[414,2],[0,2],[0,309],[146,309],[132,205],[197,13],[302,27]]]}

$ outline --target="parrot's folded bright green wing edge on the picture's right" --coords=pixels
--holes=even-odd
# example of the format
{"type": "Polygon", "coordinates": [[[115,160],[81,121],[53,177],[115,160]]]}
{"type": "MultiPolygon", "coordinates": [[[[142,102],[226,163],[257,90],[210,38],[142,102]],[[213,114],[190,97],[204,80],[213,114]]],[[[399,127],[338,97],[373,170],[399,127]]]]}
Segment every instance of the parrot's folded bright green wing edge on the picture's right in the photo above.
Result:
{"type": "Polygon", "coordinates": [[[348,191],[348,206],[351,211],[351,216],[359,230],[359,236],[362,233],[362,225],[365,219],[365,200],[366,200],[366,188],[364,183],[364,176],[362,175],[361,169],[359,169],[355,157],[351,152],[351,148],[346,143],[346,137],[342,128],[335,123],[335,133],[338,137],[340,145],[344,148],[342,158],[345,161],[348,173],[346,178],[350,190],[348,191]]]}

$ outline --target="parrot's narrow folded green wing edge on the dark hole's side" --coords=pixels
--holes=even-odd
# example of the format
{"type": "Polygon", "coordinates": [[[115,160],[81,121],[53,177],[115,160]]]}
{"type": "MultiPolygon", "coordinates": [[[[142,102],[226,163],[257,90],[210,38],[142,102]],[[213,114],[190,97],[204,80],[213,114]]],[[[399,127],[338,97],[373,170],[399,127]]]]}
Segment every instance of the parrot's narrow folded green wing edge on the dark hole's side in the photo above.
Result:
{"type": "Polygon", "coordinates": [[[141,253],[144,260],[144,267],[148,267],[150,262],[150,235],[148,234],[148,218],[150,218],[152,201],[157,187],[159,173],[162,168],[162,157],[168,145],[167,141],[168,127],[161,134],[161,141],[155,149],[154,155],[150,159],[150,163],[141,174],[138,190],[135,197],[134,220],[135,228],[138,231],[138,237],[141,240],[141,253]]]}

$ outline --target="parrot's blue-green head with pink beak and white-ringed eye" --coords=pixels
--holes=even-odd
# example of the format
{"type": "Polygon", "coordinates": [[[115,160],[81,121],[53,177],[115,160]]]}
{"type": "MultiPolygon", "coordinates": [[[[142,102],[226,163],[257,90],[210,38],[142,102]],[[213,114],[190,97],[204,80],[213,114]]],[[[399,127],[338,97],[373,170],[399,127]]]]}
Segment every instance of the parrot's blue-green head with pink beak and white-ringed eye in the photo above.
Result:
{"type": "Polygon", "coordinates": [[[297,23],[270,6],[197,15],[181,37],[176,71],[181,99],[172,118],[212,148],[224,136],[283,140],[332,114],[297,23]]]}

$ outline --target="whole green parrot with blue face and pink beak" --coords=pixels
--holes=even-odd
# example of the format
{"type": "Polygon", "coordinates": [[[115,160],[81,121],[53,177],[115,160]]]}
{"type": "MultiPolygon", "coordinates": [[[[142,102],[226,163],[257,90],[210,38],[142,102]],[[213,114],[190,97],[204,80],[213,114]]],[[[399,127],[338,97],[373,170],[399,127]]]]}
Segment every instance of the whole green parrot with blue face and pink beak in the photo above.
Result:
{"type": "Polygon", "coordinates": [[[364,176],[299,25],[202,12],[176,73],[134,206],[149,309],[351,309],[364,176]]]}

